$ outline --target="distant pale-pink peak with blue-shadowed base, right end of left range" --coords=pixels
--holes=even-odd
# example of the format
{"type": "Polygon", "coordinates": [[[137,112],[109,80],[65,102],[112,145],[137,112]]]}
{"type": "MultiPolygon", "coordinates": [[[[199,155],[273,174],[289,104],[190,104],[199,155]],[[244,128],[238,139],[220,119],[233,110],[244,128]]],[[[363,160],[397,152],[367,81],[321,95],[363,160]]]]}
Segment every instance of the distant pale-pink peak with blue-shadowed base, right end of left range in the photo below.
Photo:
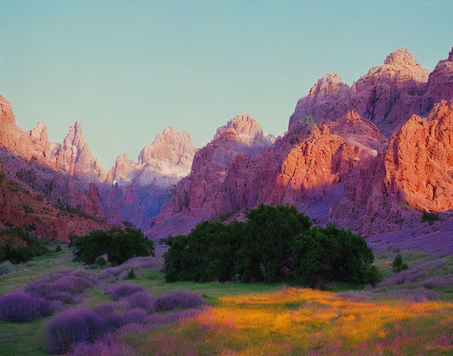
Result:
{"type": "Polygon", "coordinates": [[[187,131],[166,128],[140,152],[137,163],[118,156],[107,177],[107,221],[143,227],[171,198],[170,189],[190,173],[196,149],[187,131]],[[109,190],[109,189],[108,189],[109,190]]]}

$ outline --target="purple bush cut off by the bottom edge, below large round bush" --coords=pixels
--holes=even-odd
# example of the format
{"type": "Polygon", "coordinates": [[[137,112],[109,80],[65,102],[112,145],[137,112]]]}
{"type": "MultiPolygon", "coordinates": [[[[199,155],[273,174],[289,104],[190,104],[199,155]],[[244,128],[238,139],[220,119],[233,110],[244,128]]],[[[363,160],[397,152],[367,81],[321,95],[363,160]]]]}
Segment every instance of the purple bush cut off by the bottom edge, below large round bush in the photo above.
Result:
{"type": "Polygon", "coordinates": [[[115,341],[113,336],[95,341],[94,343],[81,342],[71,347],[68,356],[134,356],[133,349],[125,343],[115,341]]]}

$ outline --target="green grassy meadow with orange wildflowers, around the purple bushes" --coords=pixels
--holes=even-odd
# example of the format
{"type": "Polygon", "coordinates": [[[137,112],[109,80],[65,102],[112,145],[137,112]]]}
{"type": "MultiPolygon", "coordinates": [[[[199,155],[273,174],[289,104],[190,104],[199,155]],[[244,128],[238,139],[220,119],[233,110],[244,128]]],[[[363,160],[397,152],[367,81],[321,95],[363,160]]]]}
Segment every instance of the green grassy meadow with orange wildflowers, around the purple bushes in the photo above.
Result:
{"type": "MultiPolygon", "coordinates": [[[[153,296],[192,290],[203,297],[203,310],[184,322],[116,338],[137,355],[453,355],[452,256],[402,251],[409,269],[393,274],[396,252],[375,251],[375,265],[385,277],[376,288],[166,283],[158,261],[154,270],[138,271],[132,282],[153,296]]],[[[34,258],[0,276],[0,295],[62,268],[84,266],[72,262],[68,249],[34,258]]],[[[102,281],[65,308],[109,302],[105,291],[121,282],[102,281]]],[[[44,329],[50,319],[0,321],[0,355],[47,355],[44,329]]]]}

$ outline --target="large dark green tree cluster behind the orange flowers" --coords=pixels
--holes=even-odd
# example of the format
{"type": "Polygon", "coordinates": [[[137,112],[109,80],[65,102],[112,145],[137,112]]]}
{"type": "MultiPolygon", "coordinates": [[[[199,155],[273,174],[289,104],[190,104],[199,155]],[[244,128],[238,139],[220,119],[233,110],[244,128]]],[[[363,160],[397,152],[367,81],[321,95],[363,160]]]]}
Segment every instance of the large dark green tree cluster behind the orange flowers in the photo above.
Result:
{"type": "Polygon", "coordinates": [[[313,287],[318,281],[374,284],[379,273],[364,239],[350,231],[311,228],[294,206],[260,205],[247,222],[197,224],[189,235],[168,237],[167,282],[290,280],[313,287]]]}

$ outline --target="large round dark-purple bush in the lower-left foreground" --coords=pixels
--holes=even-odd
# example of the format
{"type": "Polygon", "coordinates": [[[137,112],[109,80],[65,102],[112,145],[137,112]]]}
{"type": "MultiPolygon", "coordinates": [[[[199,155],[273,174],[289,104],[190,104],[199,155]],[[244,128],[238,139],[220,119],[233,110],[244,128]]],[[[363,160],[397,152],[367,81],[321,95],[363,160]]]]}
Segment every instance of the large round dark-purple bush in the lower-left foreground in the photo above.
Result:
{"type": "Polygon", "coordinates": [[[48,351],[68,352],[79,342],[94,342],[105,332],[104,321],[92,310],[66,309],[46,325],[48,351]]]}

